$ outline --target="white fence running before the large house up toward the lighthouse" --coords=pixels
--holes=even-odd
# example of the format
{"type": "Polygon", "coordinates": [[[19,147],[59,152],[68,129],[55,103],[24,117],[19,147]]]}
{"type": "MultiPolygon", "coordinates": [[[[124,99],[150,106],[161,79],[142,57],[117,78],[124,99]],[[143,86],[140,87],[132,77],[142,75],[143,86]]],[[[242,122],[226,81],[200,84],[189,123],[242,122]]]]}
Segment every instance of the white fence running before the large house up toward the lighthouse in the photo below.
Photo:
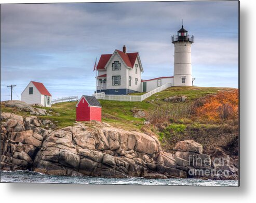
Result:
{"type": "Polygon", "coordinates": [[[156,88],[150,92],[147,92],[143,95],[113,95],[113,94],[105,94],[104,92],[93,94],[97,99],[105,99],[105,100],[115,100],[115,101],[143,101],[147,97],[151,95],[161,92],[167,88],[171,87],[171,83],[166,83],[159,88],[156,88]]]}

